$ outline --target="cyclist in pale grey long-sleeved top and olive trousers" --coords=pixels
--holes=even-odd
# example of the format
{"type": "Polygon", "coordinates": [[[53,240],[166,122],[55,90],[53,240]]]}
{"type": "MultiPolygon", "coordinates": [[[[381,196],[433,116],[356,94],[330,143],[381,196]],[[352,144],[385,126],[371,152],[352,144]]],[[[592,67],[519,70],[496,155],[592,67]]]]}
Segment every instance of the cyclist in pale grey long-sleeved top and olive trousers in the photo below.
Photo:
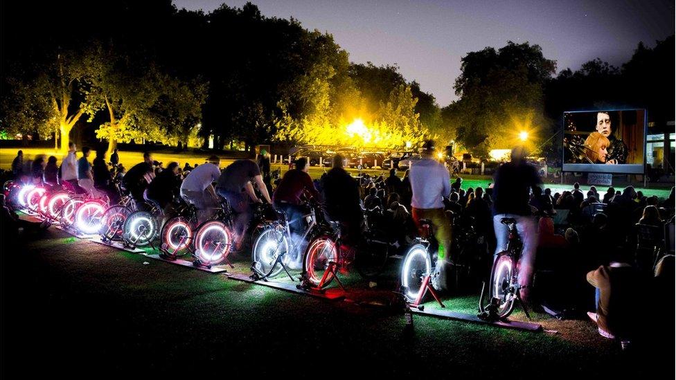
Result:
{"type": "Polygon", "coordinates": [[[451,192],[451,179],[448,170],[434,159],[434,141],[425,143],[423,158],[411,161],[411,215],[422,235],[421,219],[429,219],[434,228],[434,237],[439,243],[437,274],[433,278],[436,289],[447,289],[447,278],[450,278],[447,266],[451,265],[451,221],[444,212],[443,198],[451,192]]]}

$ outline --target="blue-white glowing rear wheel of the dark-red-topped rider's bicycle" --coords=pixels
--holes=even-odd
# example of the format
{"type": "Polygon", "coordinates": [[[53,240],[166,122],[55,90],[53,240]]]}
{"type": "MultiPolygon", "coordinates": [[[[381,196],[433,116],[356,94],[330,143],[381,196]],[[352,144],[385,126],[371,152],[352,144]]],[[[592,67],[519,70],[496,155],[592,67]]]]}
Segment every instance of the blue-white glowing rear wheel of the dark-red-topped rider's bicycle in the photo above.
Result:
{"type": "Polygon", "coordinates": [[[283,271],[283,266],[276,263],[277,257],[283,255],[283,263],[285,265],[288,264],[290,260],[289,246],[290,244],[284,231],[281,228],[269,226],[253,242],[251,261],[256,265],[258,271],[269,278],[273,278],[283,271]],[[275,265],[274,268],[273,265],[275,265]]]}

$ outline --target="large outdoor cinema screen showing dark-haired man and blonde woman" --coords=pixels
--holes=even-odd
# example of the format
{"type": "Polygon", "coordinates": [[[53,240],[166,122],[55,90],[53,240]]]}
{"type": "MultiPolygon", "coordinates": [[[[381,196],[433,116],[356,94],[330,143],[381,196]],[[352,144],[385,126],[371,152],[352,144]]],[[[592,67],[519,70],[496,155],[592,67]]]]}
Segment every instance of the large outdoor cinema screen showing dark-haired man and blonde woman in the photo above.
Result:
{"type": "Polygon", "coordinates": [[[563,170],[643,174],[645,109],[564,112],[563,170]]]}

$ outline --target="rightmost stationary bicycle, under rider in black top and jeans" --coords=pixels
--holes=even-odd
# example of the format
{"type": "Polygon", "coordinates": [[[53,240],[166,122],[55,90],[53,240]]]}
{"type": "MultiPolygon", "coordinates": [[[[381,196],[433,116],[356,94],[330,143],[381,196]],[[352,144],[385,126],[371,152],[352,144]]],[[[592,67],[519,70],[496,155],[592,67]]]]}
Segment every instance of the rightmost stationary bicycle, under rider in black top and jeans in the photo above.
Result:
{"type": "Polygon", "coordinates": [[[488,282],[489,302],[483,305],[486,293],[486,282],[481,287],[479,297],[479,318],[486,320],[502,320],[514,311],[515,301],[521,305],[526,317],[531,319],[528,309],[521,298],[521,289],[518,282],[517,264],[521,258],[523,243],[517,230],[517,221],[514,218],[502,218],[500,223],[507,226],[509,237],[507,248],[495,255],[488,282]]]}

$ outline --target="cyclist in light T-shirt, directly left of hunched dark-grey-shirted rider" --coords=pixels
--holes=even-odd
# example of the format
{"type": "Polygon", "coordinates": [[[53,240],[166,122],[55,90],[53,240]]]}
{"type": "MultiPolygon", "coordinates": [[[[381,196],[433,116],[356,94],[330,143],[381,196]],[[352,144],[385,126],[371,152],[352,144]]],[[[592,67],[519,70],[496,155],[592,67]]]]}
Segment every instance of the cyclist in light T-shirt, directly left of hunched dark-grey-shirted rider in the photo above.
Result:
{"type": "Polygon", "coordinates": [[[190,170],[181,184],[181,198],[197,209],[197,224],[211,218],[218,206],[213,183],[221,176],[220,162],[217,156],[209,157],[207,163],[190,170]]]}

